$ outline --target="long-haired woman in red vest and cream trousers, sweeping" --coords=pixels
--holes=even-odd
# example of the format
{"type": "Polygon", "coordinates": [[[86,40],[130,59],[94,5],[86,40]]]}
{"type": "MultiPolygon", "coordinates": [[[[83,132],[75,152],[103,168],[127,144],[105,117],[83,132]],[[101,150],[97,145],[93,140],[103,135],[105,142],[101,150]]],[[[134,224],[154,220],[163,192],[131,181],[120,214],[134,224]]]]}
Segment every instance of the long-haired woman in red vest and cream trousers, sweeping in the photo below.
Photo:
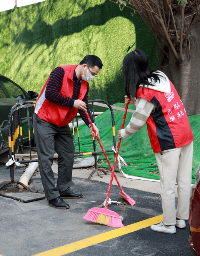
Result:
{"type": "Polygon", "coordinates": [[[147,55],[142,50],[136,49],[125,56],[122,76],[125,104],[135,103],[136,110],[127,127],[118,131],[117,137],[127,138],[147,123],[148,136],[160,172],[163,209],[163,221],[152,225],[151,229],[174,234],[175,226],[185,228],[185,220],[189,218],[193,135],[187,114],[172,82],[163,72],[149,69],[147,55]]]}

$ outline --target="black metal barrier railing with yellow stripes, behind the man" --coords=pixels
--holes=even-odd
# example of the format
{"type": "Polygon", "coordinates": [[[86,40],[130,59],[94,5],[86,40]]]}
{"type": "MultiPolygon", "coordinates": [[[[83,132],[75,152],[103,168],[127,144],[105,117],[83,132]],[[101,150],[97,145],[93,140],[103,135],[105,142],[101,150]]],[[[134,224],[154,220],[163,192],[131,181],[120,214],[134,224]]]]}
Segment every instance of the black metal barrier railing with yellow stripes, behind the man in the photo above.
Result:
{"type": "MultiPolygon", "coordinates": [[[[112,132],[113,132],[113,146],[115,147],[116,150],[116,140],[115,140],[115,121],[114,121],[114,115],[113,115],[113,110],[110,104],[108,104],[105,100],[88,100],[88,103],[92,103],[92,117],[93,120],[95,121],[95,112],[94,112],[94,102],[103,102],[106,104],[110,111],[111,111],[111,122],[112,122],[112,132]]],[[[12,111],[8,116],[8,146],[9,146],[9,159],[12,159],[12,156],[17,159],[16,161],[19,162],[20,164],[27,164],[31,162],[37,162],[38,160],[35,159],[34,157],[37,156],[35,154],[34,156],[32,155],[32,150],[37,150],[36,144],[35,144],[35,137],[34,137],[34,129],[32,125],[32,117],[34,113],[34,107],[36,102],[33,101],[27,101],[24,102],[22,105],[17,106],[15,104],[12,107],[12,111]],[[26,111],[24,111],[26,110],[26,111]],[[23,115],[22,115],[23,111],[23,115]],[[26,116],[25,115],[26,112],[26,116]],[[23,134],[23,127],[27,125],[28,129],[28,134],[23,134]],[[28,146],[25,145],[25,142],[28,142],[28,146]],[[24,154],[24,149],[27,148],[29,149],[29,159],[23,158],[23,156],[27,158],[27,154],[24,154]],[[19,153],[21,151],[21,154],[19,153]],[[19,161],[19,159],[22,159],[19,161]]],[[[92,155],[94,156],[94,162],[95,162],[95,169],[92,171],[88,179],[91,179],[92,175],[97,172],[97,171],[102,171],[104,174],[108,174],[105,170],[98,168],[97,164],[97,155],[102,154],[103,151],[97,151],[96,150],[96,138],[93,137],[93,152],[82,152],[80,151],[80,137],[79,137],[79,131],[78,131],[78,118],[77,115],[75,117],[75,120],[77,122],[77,135],[78,135],[78,149],[79,151],[75,151],[75,157],[78,156],[87,156],[87,155],[92,155]]],[[[73,124],[73,141],[75,144],[75,136],[74,136],[74,121],[72,122],[73,124]]],[[[113,152],[112,149],[105,150],[105,152],[113,152]]],[[[114,152],[113,152],[114,153],[114,152]]],[[[114,153],[115,154],[115,153],[114,153]]],[[[10,181],[6,182],[3,184],[0,189],[2,189],[4,186],[7,184],[11,183],[17,183],[22,185],[25,189],[28,189],[27,186],[25,186],[22,182],[20,181],[15,181],[14,179],[14,170],[16,169],[15,162],[13,162],[10,165],[10,181]]]]}

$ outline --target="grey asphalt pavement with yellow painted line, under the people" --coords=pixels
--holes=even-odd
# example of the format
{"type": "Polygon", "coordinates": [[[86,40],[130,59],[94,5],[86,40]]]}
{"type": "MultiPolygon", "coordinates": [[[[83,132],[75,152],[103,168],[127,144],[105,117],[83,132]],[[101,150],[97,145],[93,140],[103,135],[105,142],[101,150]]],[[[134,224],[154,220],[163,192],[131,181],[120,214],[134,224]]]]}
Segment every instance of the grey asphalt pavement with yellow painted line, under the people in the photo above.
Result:
{"type": "MultiPolygon", "coordinates": [[[[23,171],[24,167],[15,170],[16,180],[23,171]]],[[[1,163],[0,183],[9,179],[10,171],[1,163]]],[[[29,186],[43,193],[39,173],[29,186]]],[[[160,194],[143,191],[144,187],[139,190],[123,186],[124,192],[136,201],[130,206],[123,204],[125,200],[119,195],[119,187],[112,185],[110,198],[122,204],[112,204],[108,209],[123,216],[125,226],[113,228],[83,219],[88,209],[100,206],[106,199],[107,183],[101,179],[88,180],[87,176],[73,177],[71,188],[82,192],[83,198],[65,199],[70,208],[64,210],[49,207],[46,198],[23,203],[0,196],[0,256],[193,255],[188,244],[188,223],[185,229],[177,228],[176,234],[150,229],[152,220],[158,223],[162,218],[159,217],[162,214],[160,194]]],[[[9,191],[9,187],[5,189],[9,191]]]]}

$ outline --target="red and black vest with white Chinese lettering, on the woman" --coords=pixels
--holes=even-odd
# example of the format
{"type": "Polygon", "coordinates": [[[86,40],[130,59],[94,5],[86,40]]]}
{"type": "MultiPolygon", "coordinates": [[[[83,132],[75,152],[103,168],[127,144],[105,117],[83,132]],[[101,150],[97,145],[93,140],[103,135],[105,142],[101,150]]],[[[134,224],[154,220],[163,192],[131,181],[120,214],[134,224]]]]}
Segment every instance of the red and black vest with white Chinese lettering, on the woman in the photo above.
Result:
{"type": "Polygon", "coordinates": [[[147,120],[148,136],[153,152],[185,146],[193,141],[192,130],[182,101],[170,81],[171,93],[139,87],[137,98],[145,98],[155,105],[155,112],[147,120]]]}

